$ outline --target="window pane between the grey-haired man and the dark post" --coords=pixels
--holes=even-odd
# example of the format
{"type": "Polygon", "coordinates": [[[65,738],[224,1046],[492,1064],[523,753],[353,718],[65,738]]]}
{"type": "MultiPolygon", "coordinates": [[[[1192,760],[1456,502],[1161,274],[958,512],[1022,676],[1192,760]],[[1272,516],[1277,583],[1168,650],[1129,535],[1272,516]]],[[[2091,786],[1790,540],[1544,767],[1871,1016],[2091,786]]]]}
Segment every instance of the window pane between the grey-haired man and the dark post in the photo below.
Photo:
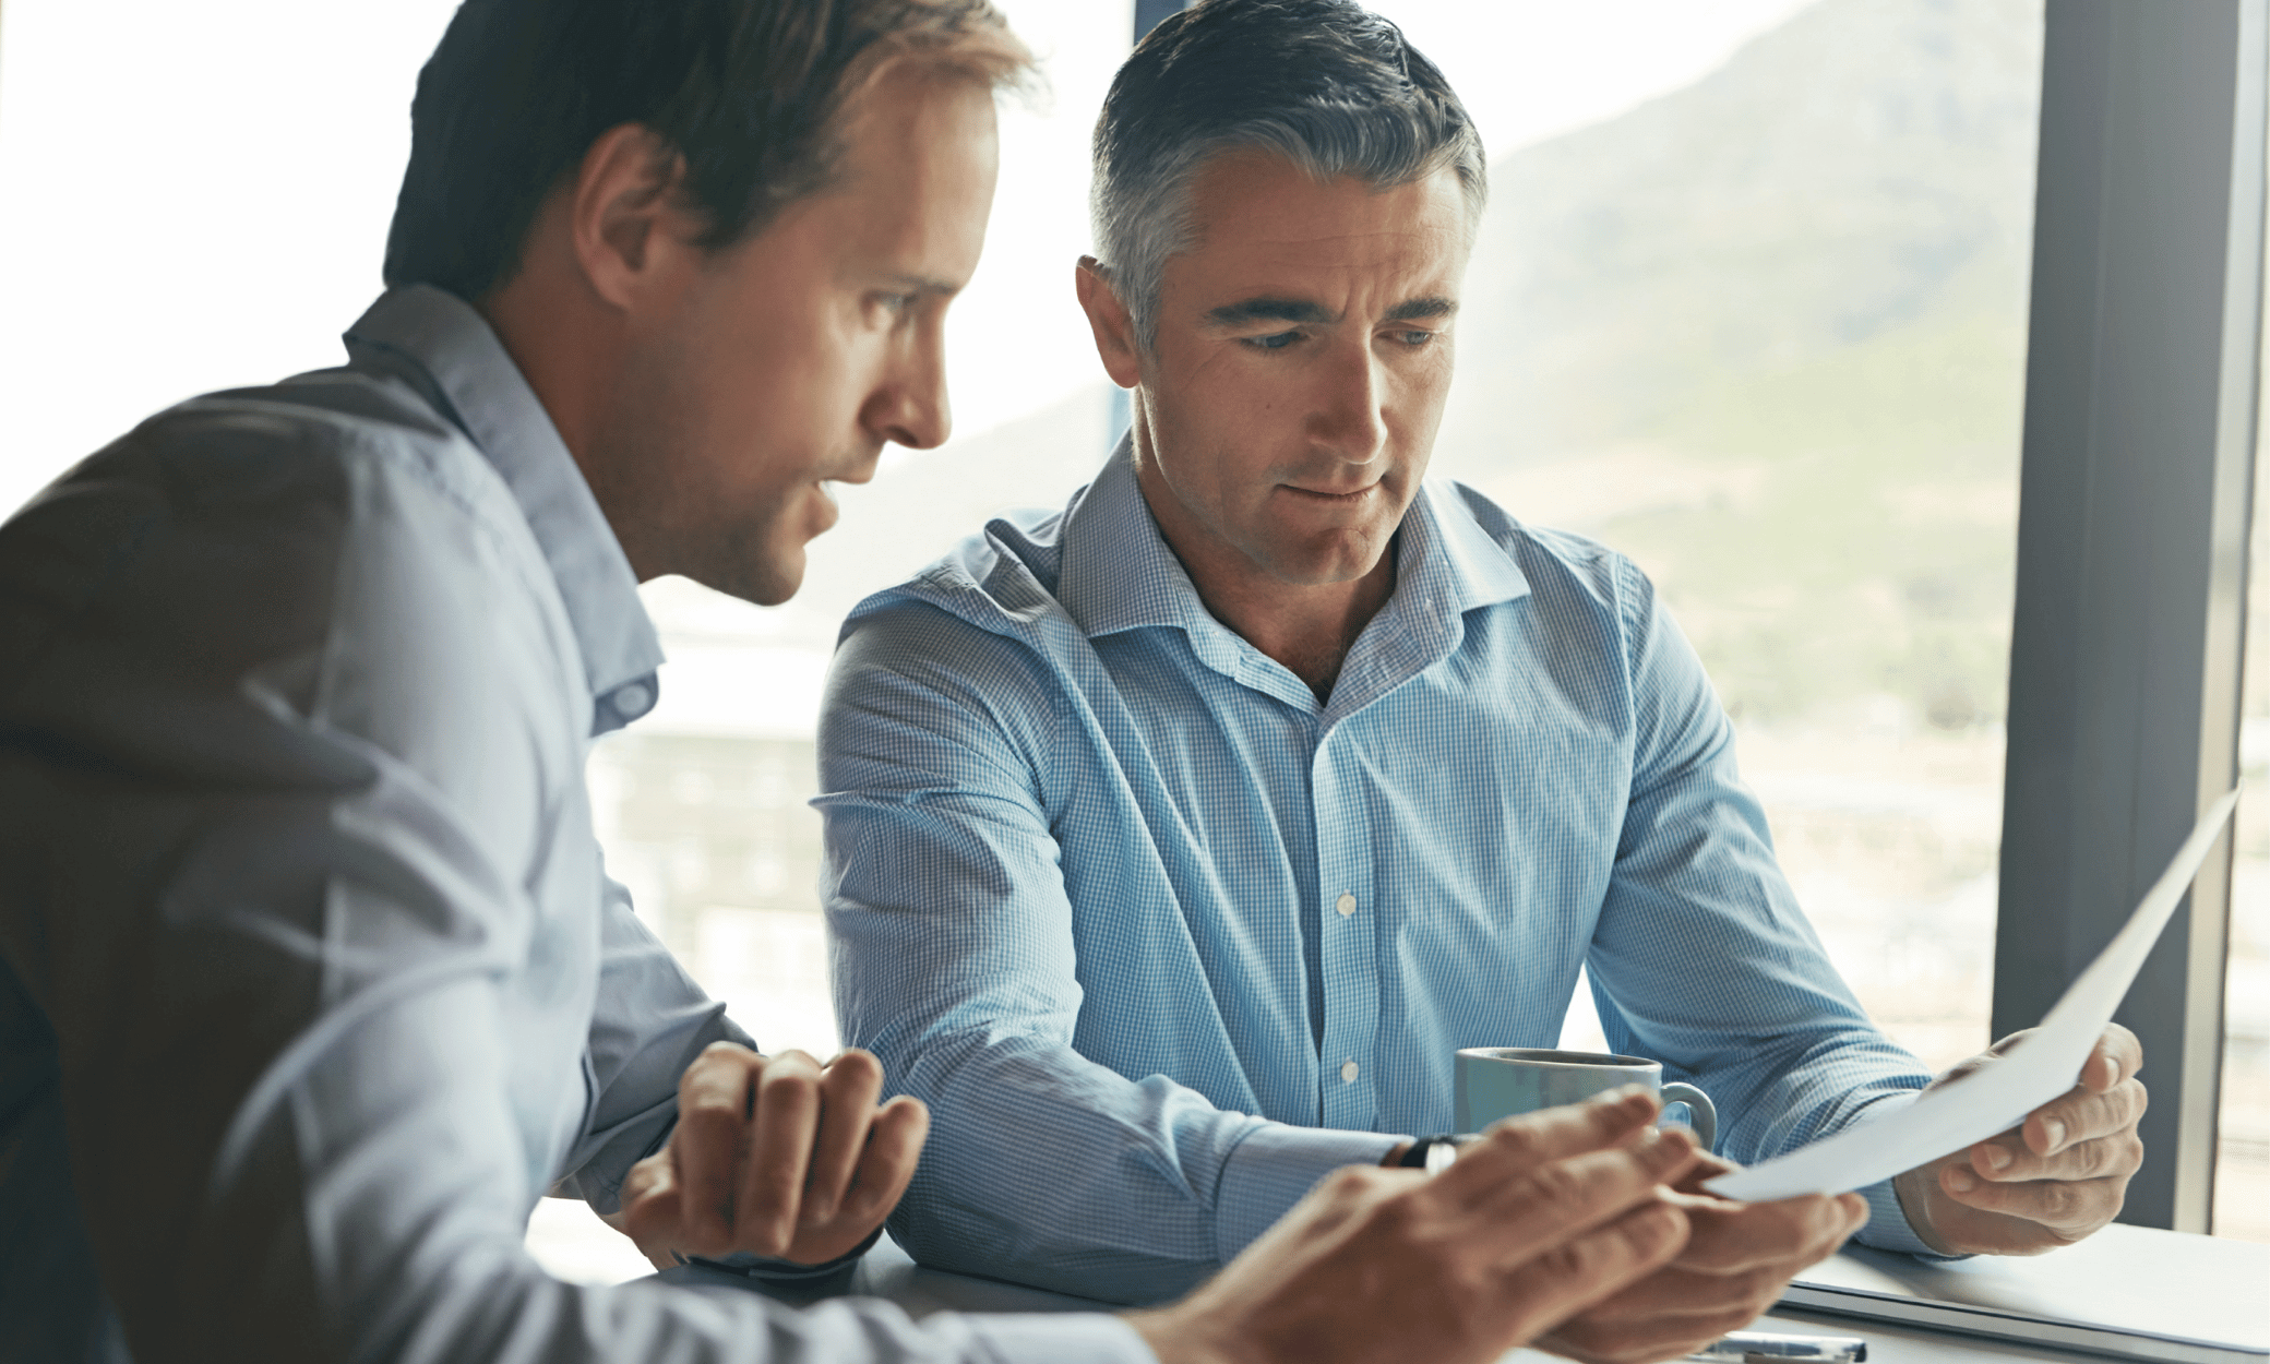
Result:
{"type": "MultiPolygon", "coordinates": [[[[1594,7],[1591,52],[1544,7],[1485,41],[1453,32],[1471,9],[1378,9],[1485,93],[1525,86],[1505,54],[1582,84],[1673,18],[1594,7]]],[[[1771,27],[1634,109],[1491,145],[1435,461],[1648,570],[1798,901],[1936,1069],[1989,1042],[2041,5],[1678,23],[1698,9],[1721,43],[1771,27]]],[[[1571,1042],[1587,1026],[1580,996],[1571,1042]]]]}

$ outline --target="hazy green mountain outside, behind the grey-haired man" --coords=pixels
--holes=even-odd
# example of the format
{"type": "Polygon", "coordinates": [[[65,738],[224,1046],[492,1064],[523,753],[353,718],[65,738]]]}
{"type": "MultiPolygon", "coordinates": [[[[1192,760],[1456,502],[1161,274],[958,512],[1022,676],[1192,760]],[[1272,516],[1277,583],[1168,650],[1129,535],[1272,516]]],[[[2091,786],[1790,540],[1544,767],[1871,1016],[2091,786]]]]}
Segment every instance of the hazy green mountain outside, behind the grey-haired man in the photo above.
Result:
{"type": "MultiPolygon", "coordinates": [[[[1435,470],[1632,554],[1727,706],[2000,717],[2041,0],[1823,0],[1491,166],[1435,470]]],[[[1096,468],[1101,384],[847,490],[799,635],[1096,468]]]]}

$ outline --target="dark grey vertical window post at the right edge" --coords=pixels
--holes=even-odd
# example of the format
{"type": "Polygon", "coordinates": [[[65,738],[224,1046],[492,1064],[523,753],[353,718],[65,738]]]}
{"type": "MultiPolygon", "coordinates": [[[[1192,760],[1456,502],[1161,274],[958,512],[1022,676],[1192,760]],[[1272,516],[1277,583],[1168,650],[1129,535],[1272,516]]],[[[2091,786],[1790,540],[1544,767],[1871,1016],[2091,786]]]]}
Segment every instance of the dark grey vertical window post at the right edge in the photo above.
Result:
{"type": "MultiPolygon", "coordinates": [[[[2238,772],[2263,5],[2048,5],[1995,1033],[2238,772]]],[[[2209,1226],[2227,926],[2229,840],[2120,1010],[2152,1087],[2125,1221],[2209,1226]]]]}

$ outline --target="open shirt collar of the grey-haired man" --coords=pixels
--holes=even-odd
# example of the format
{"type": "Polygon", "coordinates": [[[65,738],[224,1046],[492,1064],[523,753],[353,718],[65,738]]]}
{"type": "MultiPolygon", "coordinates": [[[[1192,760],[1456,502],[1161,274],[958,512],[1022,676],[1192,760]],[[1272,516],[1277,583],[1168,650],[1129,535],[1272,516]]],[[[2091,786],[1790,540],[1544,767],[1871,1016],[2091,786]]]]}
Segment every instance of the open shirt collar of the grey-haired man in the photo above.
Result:
{"type": "MultiPolygon", "coordinates": [[[[1351,651],[1330,708],[1362,708],[1457,649],[1464,613],[1528,592],[1521,565],[1473,517],[1462,490],[1455,483],[1421,486],[1396,538],[1396,590],[1351,651]]],[[[1133,436],[1119,440],[1067,515],[1056,599],[1090,638],[1176,626],[1214,672],[1262,681],[1255,676],[1260,654],[1205,611],[1183,561],[1160,533],[1135,481],[1133,436]]],[[[1287,694],[1305,697],[1305,690],[1287,694]]]]}

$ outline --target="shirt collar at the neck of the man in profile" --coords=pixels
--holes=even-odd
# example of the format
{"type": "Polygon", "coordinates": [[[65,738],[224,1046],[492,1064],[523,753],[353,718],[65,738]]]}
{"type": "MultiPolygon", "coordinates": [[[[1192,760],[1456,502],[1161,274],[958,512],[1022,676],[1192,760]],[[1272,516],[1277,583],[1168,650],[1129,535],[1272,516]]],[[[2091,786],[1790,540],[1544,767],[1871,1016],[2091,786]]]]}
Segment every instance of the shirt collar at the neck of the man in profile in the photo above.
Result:
{"type": "Polygon", "coordinates": [[[504,477],[558,583],[583,654],[595,735],[654,708],[663,642],[638,574],[504,343],[465,300],[390,288],[347,329],[354,368],[393,374],[454,422],[504,477]]]}

